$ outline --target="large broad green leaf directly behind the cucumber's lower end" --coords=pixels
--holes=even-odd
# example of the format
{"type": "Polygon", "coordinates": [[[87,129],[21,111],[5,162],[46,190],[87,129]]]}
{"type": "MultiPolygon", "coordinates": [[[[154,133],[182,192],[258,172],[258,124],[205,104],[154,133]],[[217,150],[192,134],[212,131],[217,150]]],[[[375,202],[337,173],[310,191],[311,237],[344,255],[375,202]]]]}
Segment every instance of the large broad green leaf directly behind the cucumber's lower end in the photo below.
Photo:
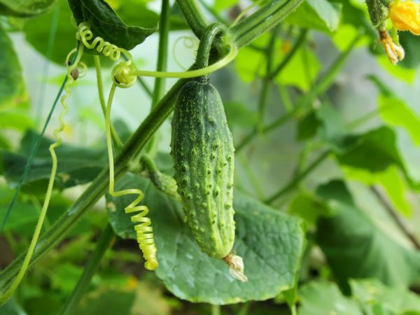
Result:
{"type": "MultiPolygon", "coordinates": [[[[230,276],[223,260],[202,253],[184,221],[181,203],[160,193],[150,181],[131,174],[121,179],[116,188],[134,187],[144,190],[144,204],[151,211],[160,263],[156,274],[177,297],[191,302],[227,304],[266,300],[293,287],[304,248],[301,222],[297,218],[235,192],[234,249],[244,258],[248,276],[248,282],[241,283],[230,276]]],[[[133,196],[107,199],[110,222],[116,233],[134,238],[130,217],[124,213],[133,196]]]]}

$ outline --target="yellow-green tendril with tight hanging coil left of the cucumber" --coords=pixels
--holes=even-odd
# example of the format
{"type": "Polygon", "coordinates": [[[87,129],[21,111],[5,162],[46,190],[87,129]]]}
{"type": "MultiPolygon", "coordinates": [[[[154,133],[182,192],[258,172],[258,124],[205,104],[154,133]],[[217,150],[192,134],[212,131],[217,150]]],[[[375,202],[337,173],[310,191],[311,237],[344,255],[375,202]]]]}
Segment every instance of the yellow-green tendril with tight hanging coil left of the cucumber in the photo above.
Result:
{"type": "Polygon", "coordinates": [[[125,190],[114,190],[114,167],[113,167],[113,151],[112,151],[112,139],[111,139],[111,105],[113,96],[116,91],[116,84],[113,84],[111,91],[109,92],[108,104],[106,105],[105,113],[105,129],[106,129],[106,145],[108,148],[109,158],[109,194],[113,197],[121,197],[125,195],[137,195],[136,199],[125,207],[126,214],[133,214],[131,221],[136,223],[134,230],[137,235],[137,242],[139,248],[143,252],[144,267],[148,270],[155,270],[158,267],[158,260],[156,259],[156,246],[155,239],[153,237],[153,228],[151,227],[151,219],[147,218],[148,207],[139,205],[141,200],[144,198],[144,193],[140,189],[125,189],[125,190]]]}

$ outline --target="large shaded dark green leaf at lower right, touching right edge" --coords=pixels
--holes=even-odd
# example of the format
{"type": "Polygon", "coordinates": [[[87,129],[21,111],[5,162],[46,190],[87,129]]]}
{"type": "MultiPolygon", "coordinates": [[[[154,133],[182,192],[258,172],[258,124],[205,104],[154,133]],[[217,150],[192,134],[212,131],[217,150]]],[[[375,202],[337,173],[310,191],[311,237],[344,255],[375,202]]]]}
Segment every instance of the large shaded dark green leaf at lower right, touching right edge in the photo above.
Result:
{"type": "Polygon", "coordinates": [[[405,248],[358,209],[342,181],[317,189],[335,216],[318,220],[316,239],[339,281],[377,278],[407,287],[420,279],[420,253],[405,248]]]}

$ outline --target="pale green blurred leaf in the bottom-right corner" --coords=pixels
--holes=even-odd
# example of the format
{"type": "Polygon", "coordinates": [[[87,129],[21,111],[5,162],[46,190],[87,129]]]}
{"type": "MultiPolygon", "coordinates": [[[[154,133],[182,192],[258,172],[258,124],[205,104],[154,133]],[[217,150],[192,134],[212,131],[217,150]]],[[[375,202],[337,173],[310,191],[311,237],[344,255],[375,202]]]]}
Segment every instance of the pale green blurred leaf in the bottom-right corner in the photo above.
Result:
{"type": "MultiPolygon", "coordinates": [[[[350,280],[351,293],[361,304],[372,311],[377,307],[384,309],[383,313],[402,314],[407,311],[420,310],[420,297],[409,290],[390,288],[377,280],[350,280]]],[[[372,313],[377,314],[377,313],[372,313]]]]}

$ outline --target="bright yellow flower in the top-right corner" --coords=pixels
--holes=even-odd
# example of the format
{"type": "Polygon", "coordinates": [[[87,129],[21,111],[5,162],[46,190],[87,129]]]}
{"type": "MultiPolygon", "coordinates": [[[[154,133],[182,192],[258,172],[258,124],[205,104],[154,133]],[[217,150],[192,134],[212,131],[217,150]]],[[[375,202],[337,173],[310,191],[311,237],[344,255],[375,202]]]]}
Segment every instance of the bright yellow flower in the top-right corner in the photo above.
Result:
{"type": "Polygon", "coordinates": [[[420,35],[420,4],[413,1],[393,1],[389,6],[389,17],[395,29],[411,31],[420,35]]]}

